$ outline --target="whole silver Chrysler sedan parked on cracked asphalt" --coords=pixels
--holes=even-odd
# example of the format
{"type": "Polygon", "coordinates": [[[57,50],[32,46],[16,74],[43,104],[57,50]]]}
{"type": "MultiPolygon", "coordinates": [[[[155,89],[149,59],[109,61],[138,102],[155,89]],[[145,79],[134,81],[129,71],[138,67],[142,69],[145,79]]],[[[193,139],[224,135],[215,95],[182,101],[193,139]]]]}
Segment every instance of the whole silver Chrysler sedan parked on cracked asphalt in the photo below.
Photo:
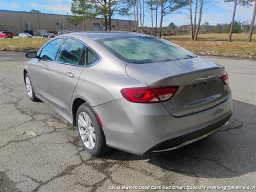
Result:
{"type": "Polygon", "coordinates": [[[158,153],[201,140],[232,115],[225,68],[161,38],[125,32],[60,35],[24,68],[30,100],[77,126],[87,152],[158,153]]]}

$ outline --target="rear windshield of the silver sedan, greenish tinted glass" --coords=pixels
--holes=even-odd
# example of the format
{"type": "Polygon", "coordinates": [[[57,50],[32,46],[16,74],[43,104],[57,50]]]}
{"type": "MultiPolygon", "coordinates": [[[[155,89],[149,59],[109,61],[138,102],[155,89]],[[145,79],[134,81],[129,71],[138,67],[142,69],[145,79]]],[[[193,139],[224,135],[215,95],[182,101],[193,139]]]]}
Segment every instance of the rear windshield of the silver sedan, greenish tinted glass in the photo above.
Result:
{"type": "Polygon", "coordinates": [[[98,42],[128,63],[156,63],[196,57],[177,45],[154,37],[109,38],[98,42]]]}

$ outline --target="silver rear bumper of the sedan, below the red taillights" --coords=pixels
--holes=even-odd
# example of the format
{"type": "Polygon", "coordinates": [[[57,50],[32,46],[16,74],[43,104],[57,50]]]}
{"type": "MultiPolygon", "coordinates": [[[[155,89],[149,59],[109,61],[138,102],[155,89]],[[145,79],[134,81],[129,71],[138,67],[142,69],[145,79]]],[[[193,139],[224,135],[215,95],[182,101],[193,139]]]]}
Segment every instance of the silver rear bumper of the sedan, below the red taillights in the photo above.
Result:
{"type": "Polygon", "coordinates": [[[232,94],[217,106],[178,118],[162,104],[138,104],[123,98],[94,109],[109,147],[143,155],[177,147],[221,127],[232,114],[232,94]]]}

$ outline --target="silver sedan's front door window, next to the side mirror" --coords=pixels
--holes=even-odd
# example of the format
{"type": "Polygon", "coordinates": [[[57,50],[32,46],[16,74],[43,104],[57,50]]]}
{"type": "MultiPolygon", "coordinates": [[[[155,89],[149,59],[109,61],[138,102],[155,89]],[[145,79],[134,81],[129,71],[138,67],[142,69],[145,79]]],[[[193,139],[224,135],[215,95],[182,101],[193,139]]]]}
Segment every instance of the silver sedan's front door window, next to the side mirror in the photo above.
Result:
{"type": "Polygon", "coordinates": [[[46,61],[55,61],[57,57],[57,53],[62,45],[63,38],[58,38],[57,40],[53,40],[49,44],[47,44],[44,48],[42,48],[40,58],[41,60],[46,61]]]}

